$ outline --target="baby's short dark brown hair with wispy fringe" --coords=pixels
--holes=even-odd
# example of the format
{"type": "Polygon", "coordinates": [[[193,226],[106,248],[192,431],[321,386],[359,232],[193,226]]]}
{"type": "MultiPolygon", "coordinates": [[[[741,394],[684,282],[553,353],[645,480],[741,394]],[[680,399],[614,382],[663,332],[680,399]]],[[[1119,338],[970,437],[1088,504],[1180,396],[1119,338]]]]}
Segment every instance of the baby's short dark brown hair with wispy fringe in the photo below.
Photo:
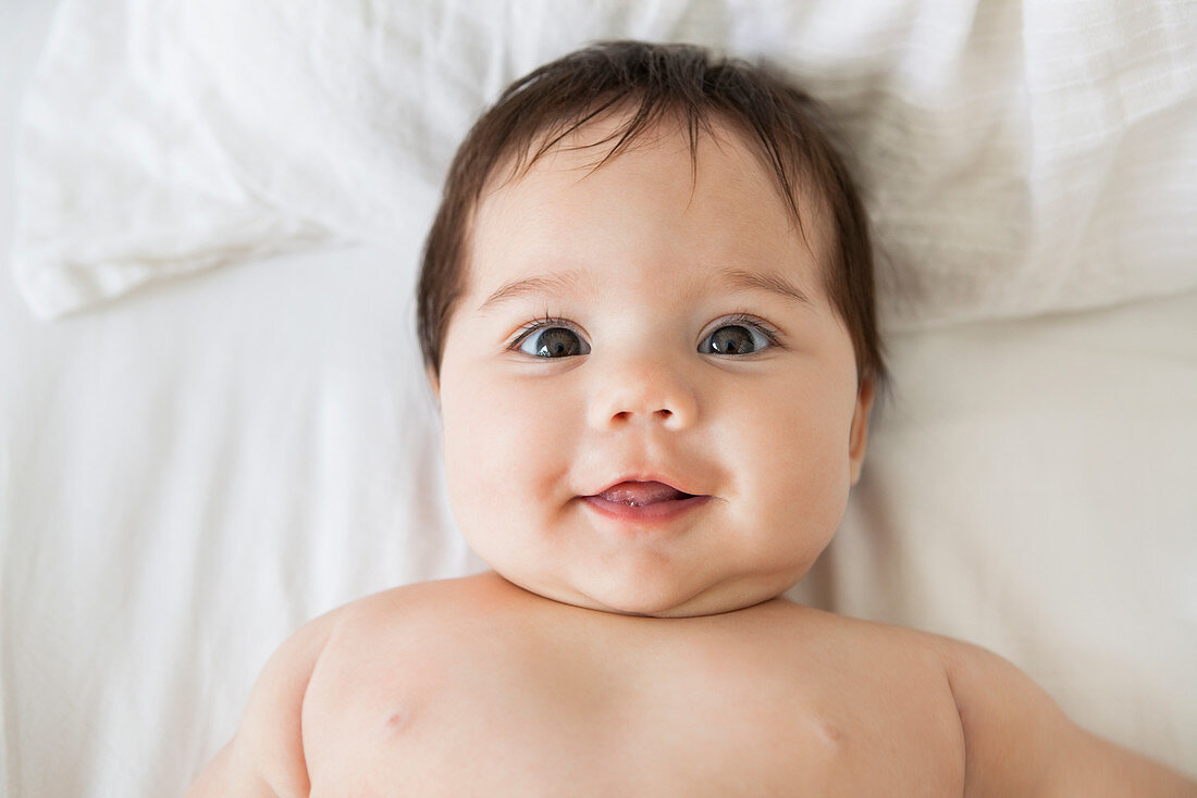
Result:
{"type": "Polygon", "coordinates": [[[815,197],[834,234],[832,262],[822,268],[825,293],[851,336],[857,377],[885,389],[868,219],[821,106],[767,66],[646,42],[595,44],[530,72],[503,92],[458,147],[420,270],[417,324],[430,373],[439,378],[445,330],[466,291],[474,212],[497,171],[512,164],[511,177],[519,177],[571,133],[616,111],[625,121],[597,142],[613,144],[596,169],[667,118],[688,130],[697,169],[698,136],[722,122],[760,156],[800,231],[803,215],[818,212],[801,207],[800,199],[815,197]]]}

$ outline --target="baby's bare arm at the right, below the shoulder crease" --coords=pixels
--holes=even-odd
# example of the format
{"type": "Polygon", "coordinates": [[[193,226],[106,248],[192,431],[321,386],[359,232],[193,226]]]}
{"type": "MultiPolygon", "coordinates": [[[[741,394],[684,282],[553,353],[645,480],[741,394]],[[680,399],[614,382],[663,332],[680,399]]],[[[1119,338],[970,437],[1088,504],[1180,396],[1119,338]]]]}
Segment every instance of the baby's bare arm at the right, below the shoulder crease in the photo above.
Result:
{"type": "Polygon", "coordinates": [[[1197,782],[1076,726],[1005,659],[956,640],[944,652],[966,796],[1197,798],[1197,782]]]}

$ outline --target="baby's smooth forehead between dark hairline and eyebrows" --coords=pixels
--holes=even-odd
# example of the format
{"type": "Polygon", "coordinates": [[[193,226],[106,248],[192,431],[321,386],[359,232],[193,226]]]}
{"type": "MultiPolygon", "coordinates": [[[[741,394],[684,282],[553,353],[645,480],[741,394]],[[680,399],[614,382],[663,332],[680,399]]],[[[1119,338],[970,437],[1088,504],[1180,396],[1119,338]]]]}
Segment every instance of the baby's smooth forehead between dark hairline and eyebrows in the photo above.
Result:
{"type": "Polygon", "coordinates": [[[796,293],[825,293],[826,249],[808,245],[746,142],[718,132],[692,148],[675,126],[650,132],[600,164],[612,151],[603,141],[608,130],[563,139],[484,195],[467,288],[479,310],[508,284],[563,273],[639,281],[638,275],[661,272],[682,280],[681,291],[713,285],[710,278],[721,269],[739,269],[788,274],[801,287],[796,293]]]}

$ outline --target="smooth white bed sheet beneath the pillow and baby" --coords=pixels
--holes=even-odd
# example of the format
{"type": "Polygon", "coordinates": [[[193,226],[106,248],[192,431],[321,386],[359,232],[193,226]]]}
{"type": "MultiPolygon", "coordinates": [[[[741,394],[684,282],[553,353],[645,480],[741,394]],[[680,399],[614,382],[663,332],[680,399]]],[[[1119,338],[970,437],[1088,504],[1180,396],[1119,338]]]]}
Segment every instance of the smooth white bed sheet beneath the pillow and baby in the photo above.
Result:
{"type": "MultiPolygon", "coordinates": [[[[0,7],[4,152],[48,11],[0,7]]],[[[11,181],[6,158],[0,251],[11,181]]],[[[303,621],[484,567],[445,504],[401,244],[54,323],[0,279],[0,794],[180,794],[303,621]]],[[[897,402],[792,596],[986,645],[1197,774],[1195,319],[1190,292],[893,336],[897,402]]]]}

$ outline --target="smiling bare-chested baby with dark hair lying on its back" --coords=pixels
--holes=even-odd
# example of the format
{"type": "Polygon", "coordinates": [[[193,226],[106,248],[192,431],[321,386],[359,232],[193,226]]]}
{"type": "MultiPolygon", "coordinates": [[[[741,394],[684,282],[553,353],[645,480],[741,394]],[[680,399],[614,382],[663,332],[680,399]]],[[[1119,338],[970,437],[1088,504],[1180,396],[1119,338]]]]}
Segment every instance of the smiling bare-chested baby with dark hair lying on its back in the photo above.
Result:
{"type": "Polygon", "coordinates": [[[479,120],[419,313],[493,571],[303,627],[190,796],[1197,796],[996,654],[782,596],[886,384],[822,130],[766,69],[634,42],[479,120]]]}

